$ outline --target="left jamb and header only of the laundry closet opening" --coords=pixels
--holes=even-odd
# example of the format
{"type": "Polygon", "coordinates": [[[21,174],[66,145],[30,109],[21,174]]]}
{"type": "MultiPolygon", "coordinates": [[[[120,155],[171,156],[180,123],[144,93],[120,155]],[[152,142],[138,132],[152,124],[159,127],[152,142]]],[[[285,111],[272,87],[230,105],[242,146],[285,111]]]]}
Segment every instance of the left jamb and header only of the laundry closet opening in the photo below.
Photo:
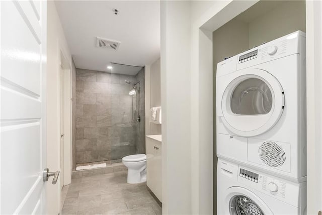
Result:
{"type": "Polygon", "coordinates": [[[216,146],[213,145],[213,62],[212,33],[259,0],[218,1],[191,23],[191,140],[193,214],[216,212],[216,146]]]}

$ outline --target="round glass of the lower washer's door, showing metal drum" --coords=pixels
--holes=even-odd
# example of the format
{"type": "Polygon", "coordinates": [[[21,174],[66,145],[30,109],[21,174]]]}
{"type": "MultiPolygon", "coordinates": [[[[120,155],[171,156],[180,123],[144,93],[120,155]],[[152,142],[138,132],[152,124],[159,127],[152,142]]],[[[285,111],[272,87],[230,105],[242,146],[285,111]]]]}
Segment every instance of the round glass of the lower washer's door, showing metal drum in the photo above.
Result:
{"type": "Polygon", "coordinates": [[[254,201],[243,195],[234,196],[229,202],[229,208],[231,215],[264,215],[254,201]]]}

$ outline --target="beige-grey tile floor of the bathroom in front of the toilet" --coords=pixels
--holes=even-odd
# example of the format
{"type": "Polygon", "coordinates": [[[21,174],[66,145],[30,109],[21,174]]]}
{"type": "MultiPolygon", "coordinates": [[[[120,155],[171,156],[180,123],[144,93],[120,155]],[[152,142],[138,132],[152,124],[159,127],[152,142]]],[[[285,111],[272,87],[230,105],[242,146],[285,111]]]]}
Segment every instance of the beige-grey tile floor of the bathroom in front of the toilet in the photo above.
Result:
{"type": "Polygon", "coordinates": [[[127,184],[127,171],[73,179],[62,214],[162,214],[146,183],[127,184]]]}

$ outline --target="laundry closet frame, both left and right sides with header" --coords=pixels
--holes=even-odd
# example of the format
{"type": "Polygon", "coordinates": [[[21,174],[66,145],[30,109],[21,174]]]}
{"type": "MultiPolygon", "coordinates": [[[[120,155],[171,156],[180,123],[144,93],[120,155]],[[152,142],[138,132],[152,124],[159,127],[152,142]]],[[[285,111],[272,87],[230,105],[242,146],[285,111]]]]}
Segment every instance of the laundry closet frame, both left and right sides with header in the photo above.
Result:
{"type": "MultiPolygon", "coordinates": [[[[212,213],[216,211],[216,147],[212,146],[213,113],[213,62],[212,33],[228,21],[247,10],[258,0],[218,1],[208,8],[203,15],[191,24],[191,139],[198,142],[192,145],[192,213],[212,213]],[[209,102],[210,101],[210,102],[209,102]],[[198,105],[196,105],[198,104],[198,105]],[[193,116],[198,116],[193,117],[193,116]],[[209,153],[211,152],[211,153],[209,153]],[[210,171],[211,168],[211,171],[210,171]],[[210,192],[211,187],[214,189],[210,192]],[[207,187],[207,190],[201,189],[207,187]],[[214,195],[215,197],[215,195],[214,195]],[[214,202],[213,202],[214,200],[214,202]],[[212,208],[213,206],[213,208],[212,208]],[[213,209],[213,210],[212,210],[213,209]]],[[[307,214],[322,211],[322,3],[306,0],[306,54],[307,54],[307,214]],[[317,191],[318,190],[318,191],[317,191]]]]}

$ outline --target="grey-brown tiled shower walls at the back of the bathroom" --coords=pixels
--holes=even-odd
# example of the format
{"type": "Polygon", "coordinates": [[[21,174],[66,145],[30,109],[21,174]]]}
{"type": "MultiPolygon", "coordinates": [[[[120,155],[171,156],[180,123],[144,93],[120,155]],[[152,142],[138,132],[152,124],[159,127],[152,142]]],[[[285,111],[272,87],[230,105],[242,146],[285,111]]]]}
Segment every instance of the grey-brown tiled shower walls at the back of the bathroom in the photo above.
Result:
{"type": "Polygon", "coordinates": [[[144,153],[144,73],[144,68],[135,76],[76,69],[73,151],[78,166],[121,162],[126,155],[144,153]],[[125,80],[139,82],[138,90],[130,93],[133,85],[125,80]]]}

